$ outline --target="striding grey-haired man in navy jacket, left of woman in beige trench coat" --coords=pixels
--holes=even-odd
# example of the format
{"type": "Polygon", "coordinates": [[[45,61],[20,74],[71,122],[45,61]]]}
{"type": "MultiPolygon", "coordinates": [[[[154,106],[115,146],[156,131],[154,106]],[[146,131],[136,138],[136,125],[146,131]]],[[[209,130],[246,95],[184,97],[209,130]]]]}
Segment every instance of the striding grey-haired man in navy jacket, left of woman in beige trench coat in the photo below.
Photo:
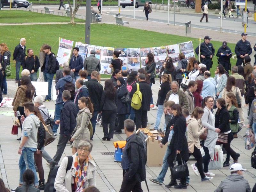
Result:
{"type": "Polygon", "coordinates": [[[71,95],[68,90],[62,92],[63,108],[60,114],[60,120],[55,124],[60,124],[60,137],[57,145],[57,151],[50,163],[52,167],[58,164],[62,153],[67,145],[70,135],[76,127],[76,104],[70,100],[71,95]]]}

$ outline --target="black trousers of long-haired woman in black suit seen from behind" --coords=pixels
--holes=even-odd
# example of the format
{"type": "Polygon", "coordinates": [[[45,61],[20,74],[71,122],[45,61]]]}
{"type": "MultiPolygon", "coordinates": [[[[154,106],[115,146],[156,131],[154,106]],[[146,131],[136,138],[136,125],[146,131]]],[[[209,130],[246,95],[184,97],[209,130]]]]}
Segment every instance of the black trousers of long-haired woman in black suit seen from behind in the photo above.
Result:
{"type": "Polygon", "coordinates": [[[102,128],[103,128],[104,137],[113,139],[116,111],[117,111],[116,109],[102,110],[102,128]],[[109,131],[108,131],[108,123],[109,123],[109,131]]]}

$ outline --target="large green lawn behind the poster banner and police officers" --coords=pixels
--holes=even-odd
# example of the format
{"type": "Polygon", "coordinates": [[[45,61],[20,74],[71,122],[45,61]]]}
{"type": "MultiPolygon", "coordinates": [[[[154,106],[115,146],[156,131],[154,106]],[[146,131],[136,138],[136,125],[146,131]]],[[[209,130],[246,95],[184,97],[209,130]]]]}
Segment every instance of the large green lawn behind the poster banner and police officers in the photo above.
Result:
{"type": "MultiPolygon", "coordinates": [[[[26,12],[29,13],[29,12],[26,12]]],[[[52,52],[57,54],[59,37],[73,40],[74,42],[84,42],[85,27],[83,24],[65,25],[17,25],[17,26],[0,26],[0,43],[6,43],[13,53],[13,50],[21,37],[27,40],[26,47],[32,48],[35,54],[39,53],[42,44],[47,43],[52,46],[52,52]]],[[[155,47],[193,41],[194,49],[199,44],[199,40],[190,37],[169,35],[152,31],[133,29],[124,26],[116,26],[110,24],[92,24],[91,25],[91,42],[90,44],[107,46],[107,47],[124,47],[124,48],[142,48],[155,47]],[[131,34],[133,34],[131,36],[131,34]],[[147,38],[145,38],[147,36],[147,38]]],[[[216,52],[222,42],[212,41],[216,52]]],[[[232,51],[235,44],[228,44],[232,51]]],[[[12,62],[12,60],[11,60],[12,62]]],[[[217,58],[213,59],[213,67],[211,69],[212,76],[217,66],[217,58]]],[[[231,59],[232,65],[236,60],[231,59]]],[[[12,76],[14,78],[15,65],[12,62],[12,76]]]]}

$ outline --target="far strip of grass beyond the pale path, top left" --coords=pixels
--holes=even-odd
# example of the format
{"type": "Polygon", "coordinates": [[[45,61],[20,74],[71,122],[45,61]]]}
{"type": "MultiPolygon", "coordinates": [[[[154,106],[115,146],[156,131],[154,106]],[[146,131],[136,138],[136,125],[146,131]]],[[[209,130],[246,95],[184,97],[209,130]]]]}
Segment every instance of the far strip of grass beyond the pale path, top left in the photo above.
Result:
{"type": "MultiPolygon", "coordinates": [[[[41,14],[36,12],[27,12],[19,10],[0,11],[1,23],[42,23],[42,22],[69,22],[69,17],[56,16],[52,14],[41,14]]],[[[84,21],[75,19],[76,22],[84,21]]]]}

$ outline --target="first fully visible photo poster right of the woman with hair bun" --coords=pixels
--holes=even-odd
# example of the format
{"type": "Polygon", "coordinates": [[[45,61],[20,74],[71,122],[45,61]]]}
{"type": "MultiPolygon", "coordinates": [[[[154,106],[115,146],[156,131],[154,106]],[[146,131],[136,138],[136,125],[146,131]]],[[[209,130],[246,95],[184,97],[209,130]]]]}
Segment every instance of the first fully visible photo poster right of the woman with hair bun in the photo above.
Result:
{"type": "Polygon", "coordinates": [[[140,49],[131,48],[128,49],[127,71],[130,74],[131,71],[138,71],[140,69],[140,49]]]}

